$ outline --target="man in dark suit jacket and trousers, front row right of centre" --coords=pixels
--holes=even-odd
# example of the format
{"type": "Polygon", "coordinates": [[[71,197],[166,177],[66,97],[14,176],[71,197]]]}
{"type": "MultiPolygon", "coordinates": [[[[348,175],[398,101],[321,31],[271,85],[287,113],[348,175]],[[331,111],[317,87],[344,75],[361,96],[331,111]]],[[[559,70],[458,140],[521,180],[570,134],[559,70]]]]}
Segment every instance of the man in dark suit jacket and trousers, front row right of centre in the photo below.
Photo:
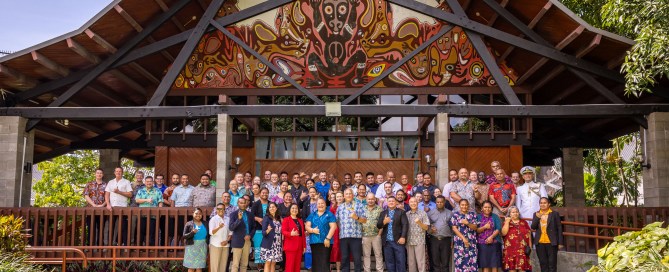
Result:
{"type": "Polygon", "coordinates": [[[397,208],[397,199],[389,196],[388,209],[379,214],[379,220],[376,227],[383,229],[381,232],[381,241],[385,250],[383,251],[383,259],[386,262],[388,272],[405,272],[406,271],[406,251],[404,245],[406,244],[407,235],[409,233],[409,219],[406,213],[397,208]]]}

